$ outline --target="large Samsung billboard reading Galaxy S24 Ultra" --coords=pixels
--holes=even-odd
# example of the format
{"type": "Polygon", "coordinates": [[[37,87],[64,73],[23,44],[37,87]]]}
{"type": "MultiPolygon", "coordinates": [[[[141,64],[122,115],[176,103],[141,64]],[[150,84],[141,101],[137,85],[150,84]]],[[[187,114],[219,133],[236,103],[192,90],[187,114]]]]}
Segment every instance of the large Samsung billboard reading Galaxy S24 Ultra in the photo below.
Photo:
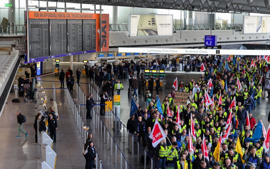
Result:
{"type": "Polygon", "coordinates": [[[130,14],[130,36],[172,36],[173,15],[130,14]]]}

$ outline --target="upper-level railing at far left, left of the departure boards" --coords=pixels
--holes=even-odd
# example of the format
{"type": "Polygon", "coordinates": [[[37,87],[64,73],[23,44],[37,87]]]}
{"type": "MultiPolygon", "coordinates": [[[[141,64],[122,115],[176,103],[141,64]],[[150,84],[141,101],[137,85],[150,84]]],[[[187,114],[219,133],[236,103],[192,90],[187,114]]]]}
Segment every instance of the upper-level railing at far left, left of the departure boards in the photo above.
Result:
{"type": "Polygon", "coordinates": [[[25,25],[0,25],[1,35],[24,35],[25,25]]]}

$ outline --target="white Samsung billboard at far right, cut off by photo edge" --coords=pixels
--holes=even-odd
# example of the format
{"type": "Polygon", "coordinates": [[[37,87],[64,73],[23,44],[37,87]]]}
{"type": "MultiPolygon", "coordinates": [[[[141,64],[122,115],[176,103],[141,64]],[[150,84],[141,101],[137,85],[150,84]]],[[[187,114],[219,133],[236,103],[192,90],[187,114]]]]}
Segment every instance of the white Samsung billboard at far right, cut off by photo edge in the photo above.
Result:
{"type": "Polygon", "coordinates": [[[269,16],[244,16],[244,34],[270,33],[269,16]]]}

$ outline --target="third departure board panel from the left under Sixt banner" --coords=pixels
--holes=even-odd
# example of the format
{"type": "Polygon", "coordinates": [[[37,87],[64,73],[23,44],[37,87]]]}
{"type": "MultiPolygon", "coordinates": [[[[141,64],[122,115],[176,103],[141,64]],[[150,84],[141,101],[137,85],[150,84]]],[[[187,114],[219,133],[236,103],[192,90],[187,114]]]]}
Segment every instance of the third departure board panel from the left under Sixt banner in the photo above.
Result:
{"type": "Polygon", "coordinates": [[[82,51],[82,20],[67,20],[67,53],[82,51]]]}

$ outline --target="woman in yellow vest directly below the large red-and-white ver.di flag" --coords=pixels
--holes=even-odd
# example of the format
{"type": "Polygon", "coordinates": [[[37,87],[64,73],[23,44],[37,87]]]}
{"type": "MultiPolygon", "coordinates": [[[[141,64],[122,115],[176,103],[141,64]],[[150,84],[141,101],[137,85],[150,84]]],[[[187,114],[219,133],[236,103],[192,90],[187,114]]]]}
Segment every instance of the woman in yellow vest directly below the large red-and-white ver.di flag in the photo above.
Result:
{"type": "Polygon", "coordinates": [[[157,145],[157,151],[159,154],[157,158],[157,168],[165,169],[165,162],[167,160],[168,150],[169,149],[167,147],[166,138],[165,138],[157,145]]]}

